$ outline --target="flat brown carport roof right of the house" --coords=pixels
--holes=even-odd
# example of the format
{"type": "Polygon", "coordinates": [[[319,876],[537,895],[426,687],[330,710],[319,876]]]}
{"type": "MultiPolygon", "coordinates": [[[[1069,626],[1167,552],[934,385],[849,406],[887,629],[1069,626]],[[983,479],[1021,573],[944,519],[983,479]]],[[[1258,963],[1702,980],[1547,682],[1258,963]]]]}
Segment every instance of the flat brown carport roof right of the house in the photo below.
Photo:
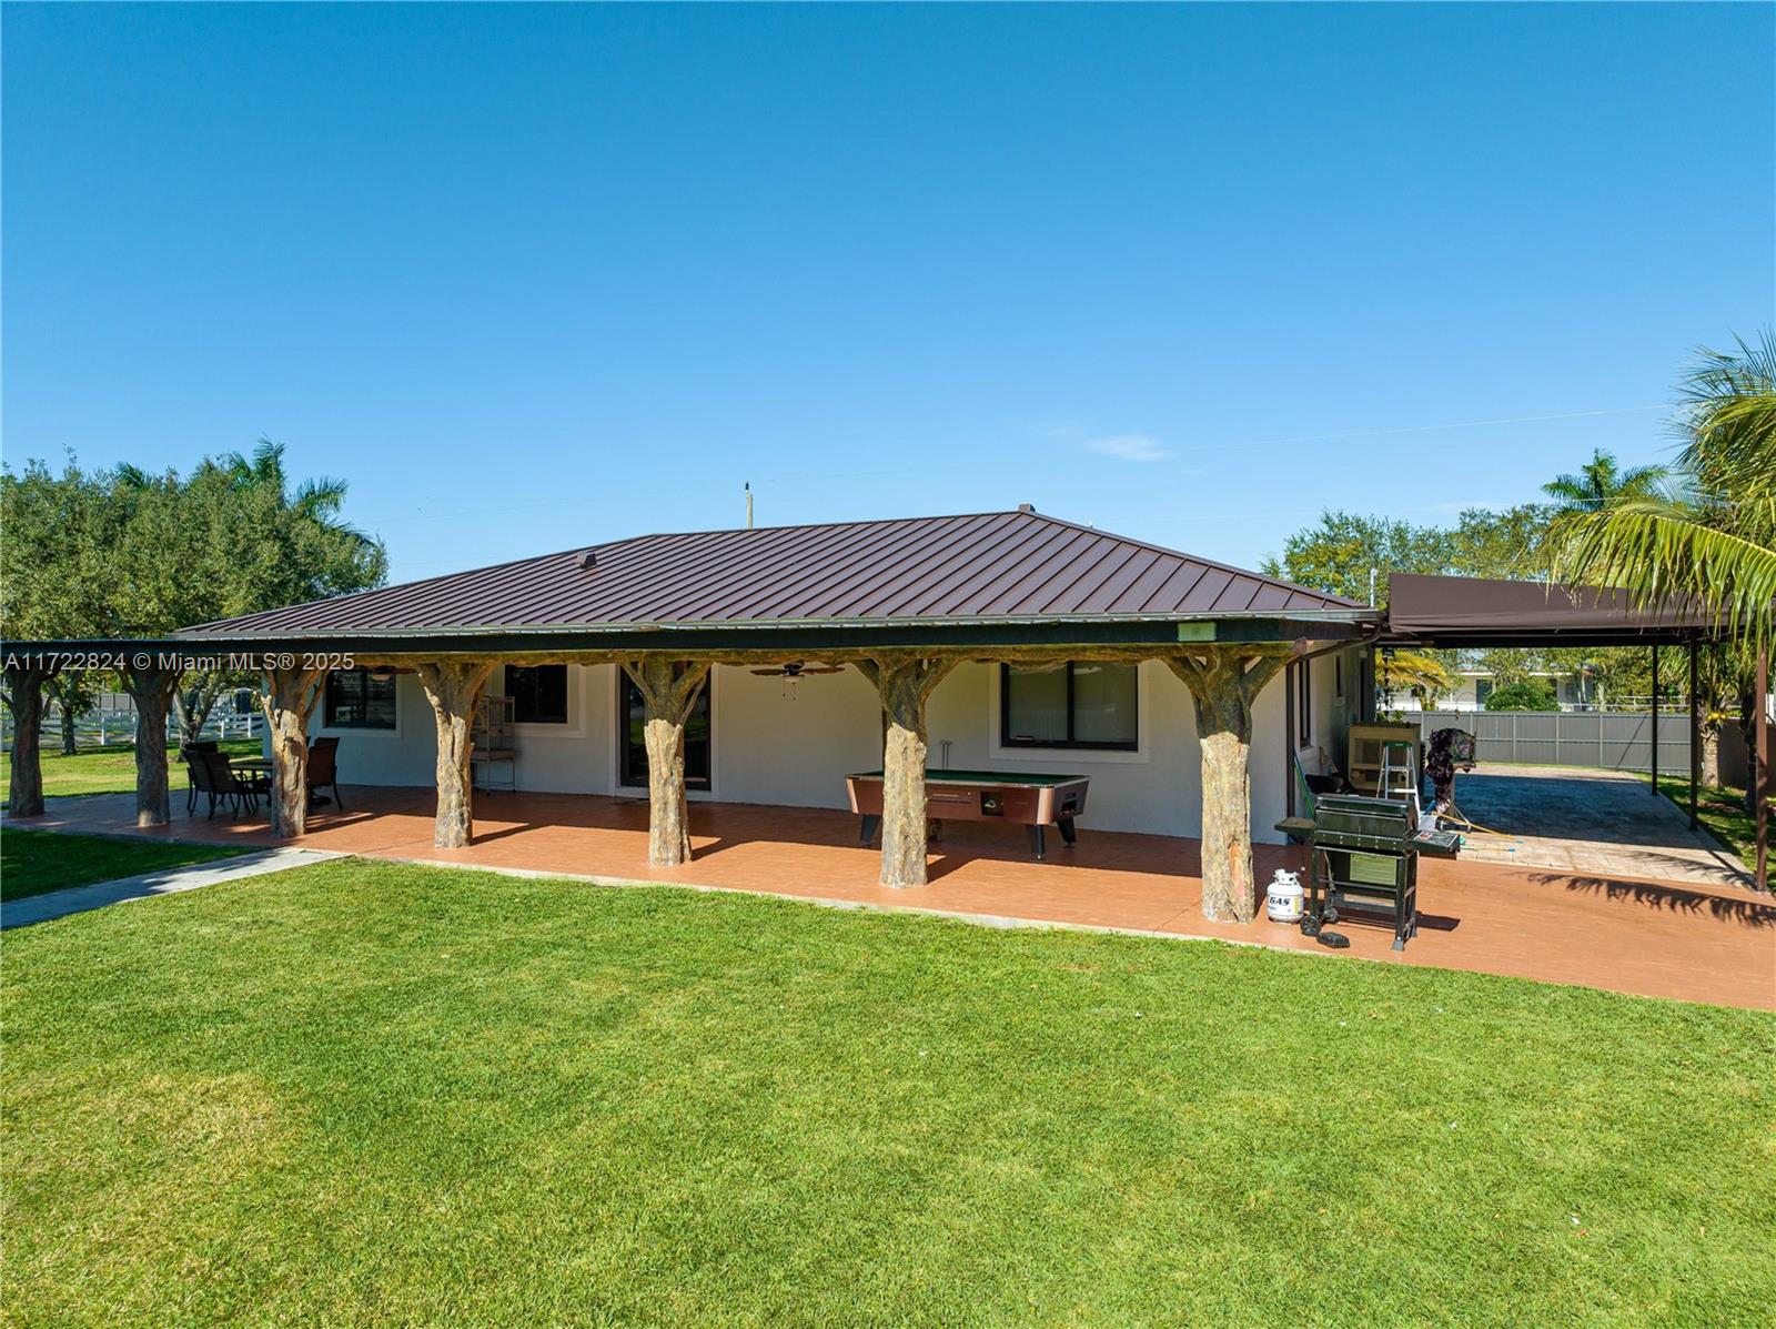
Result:
{"type": "Polygon", "coordinates": [[[1678,599],[1636,608],[1620,590],[1405,572],[1387,579],[1387,625],[1394,636],[1444,647],[1652,645],[1721,631],[1678,599]]]}

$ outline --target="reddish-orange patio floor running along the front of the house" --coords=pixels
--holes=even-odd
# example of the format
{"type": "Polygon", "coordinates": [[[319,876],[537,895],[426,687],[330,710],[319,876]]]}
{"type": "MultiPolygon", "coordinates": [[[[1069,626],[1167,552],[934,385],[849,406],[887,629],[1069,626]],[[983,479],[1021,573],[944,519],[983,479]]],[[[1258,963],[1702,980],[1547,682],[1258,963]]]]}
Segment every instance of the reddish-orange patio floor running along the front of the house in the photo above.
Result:
{"type": "MultiPolygon", "coordinates": [[[[186,817],[133,828],[133,794],[50,800],[23,826],[272,844],[263,817],[186,817]]],[[[584,794],[478,794],[474,842],[432,848],[430,789],[345,789],[345,808],[309,819],[302,848],[373,858],[659,881],[801,899],[913,908],[1032,924],[1209,936],[1394,965],[1439,965],[1581,983],[1613,991],[1776,1009],[1776,903],[1733,885],[1661,883],[1607,874],[1424,858],[1419,935],[1405,952],[1391,931],[1352,924],[1344,952],[1263,917],[1213,924],[1199,910],[1199,846],[1165,835],[1082,830],[1074,848],[1050,837],[1030,858],[1021,828],[952,823],[932,844],[931,883],[886,890],[877,855],[858,844],[856,817],[826,808],[693,803],[693,862],[646,867],[646,803],[584,794]]],[[[1257,846],[1259,878],[1300,865],[1300,851],[1257,846]]]]}

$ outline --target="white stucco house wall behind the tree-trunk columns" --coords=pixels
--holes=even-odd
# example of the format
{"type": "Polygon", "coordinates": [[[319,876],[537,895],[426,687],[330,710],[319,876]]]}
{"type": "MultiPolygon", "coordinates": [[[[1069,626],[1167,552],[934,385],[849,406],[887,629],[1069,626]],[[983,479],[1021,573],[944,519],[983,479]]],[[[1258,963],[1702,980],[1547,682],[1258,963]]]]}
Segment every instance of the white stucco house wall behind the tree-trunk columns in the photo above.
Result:
{"type": "MultiPolygon", "coordinates": [[[[1346,705],[1336,705],[1332,668],[1316,663],[1314,728],[1325,744],[1353,707],[1355,677],[1346,668],[1346,705]],[[1321,691],[1323,689],[1323,691],[1321,691]]],[[[496,672],[497,689],[503,684],[496,672]]],[[[1195,835],[1201,828],[1201,750],[1188,689],[1163,664],[1140,666],[1140,748],[1128,752],[1003,750],[1000,672],[964,664],[932,693],[931,764],[968,769],[1066,771],[1092,778],[1089,830],[1195,835]]],[[[346,784],[430,785],[435,764],[432,707],[414,675],[398,675],[398,728],[337,734],[346,784]]],[[[845,807],[844,776],[881,766],[881,709],[856,672],[812,675],[796,684],[719,666],[712,680],[714,778],[707,794],[732,803],[845,807]]],[[[1257,700],[1252,734],[1252,835],[1275,840],[1272,824],[1284,801],[1284,696],[1272,682],[1257,700]]],[[[625,794],[616,785],[616,668],[568,668],[568,723],[519,728],[519,789],[625,794]]],[[[499,768],[496,784],[504,782],[499,768]]]]}

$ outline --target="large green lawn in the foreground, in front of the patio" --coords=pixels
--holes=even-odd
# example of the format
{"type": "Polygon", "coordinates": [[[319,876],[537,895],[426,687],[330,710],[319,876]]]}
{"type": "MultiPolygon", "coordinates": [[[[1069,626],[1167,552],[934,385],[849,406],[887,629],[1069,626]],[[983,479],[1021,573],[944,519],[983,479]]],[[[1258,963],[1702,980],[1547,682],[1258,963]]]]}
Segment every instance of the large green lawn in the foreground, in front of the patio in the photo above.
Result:
{"type": "Polygon", "coordinates": [[[12,1324],[1776,1304],[1769,1015],[362,860],[5,951],[12,1324]]]}

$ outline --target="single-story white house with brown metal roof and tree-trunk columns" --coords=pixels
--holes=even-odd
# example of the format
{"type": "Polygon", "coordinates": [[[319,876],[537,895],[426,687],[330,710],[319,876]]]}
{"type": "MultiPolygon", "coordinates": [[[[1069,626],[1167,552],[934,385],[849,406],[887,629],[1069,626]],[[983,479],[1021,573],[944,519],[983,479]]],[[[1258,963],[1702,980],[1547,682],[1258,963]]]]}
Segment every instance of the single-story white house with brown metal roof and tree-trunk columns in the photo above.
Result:
{"type": "MultiPolygon", "coordinates": [[[[1250,839],[1277,839],[1296,746],[1337,752],[1369,712],[1376,629],[1366,604],[1021,506],[590,544],[201,624],[133,643],[160,654],[124,677],[147,732],[194,659],[265,666],[286,833],[320,737],[352,784],[437,782],[440,846],[472,835],[476,784],[645,794],[664,865],[691,801],[845,807],[879,771],[883,881],[918,885],[927,766],[1080,775],[1080,826],[1202,839],[1204,899],[1225,878],[1250,917],[1250,839]]],[[[144,782],[153,823],[163,776],[144,782]]]]}

